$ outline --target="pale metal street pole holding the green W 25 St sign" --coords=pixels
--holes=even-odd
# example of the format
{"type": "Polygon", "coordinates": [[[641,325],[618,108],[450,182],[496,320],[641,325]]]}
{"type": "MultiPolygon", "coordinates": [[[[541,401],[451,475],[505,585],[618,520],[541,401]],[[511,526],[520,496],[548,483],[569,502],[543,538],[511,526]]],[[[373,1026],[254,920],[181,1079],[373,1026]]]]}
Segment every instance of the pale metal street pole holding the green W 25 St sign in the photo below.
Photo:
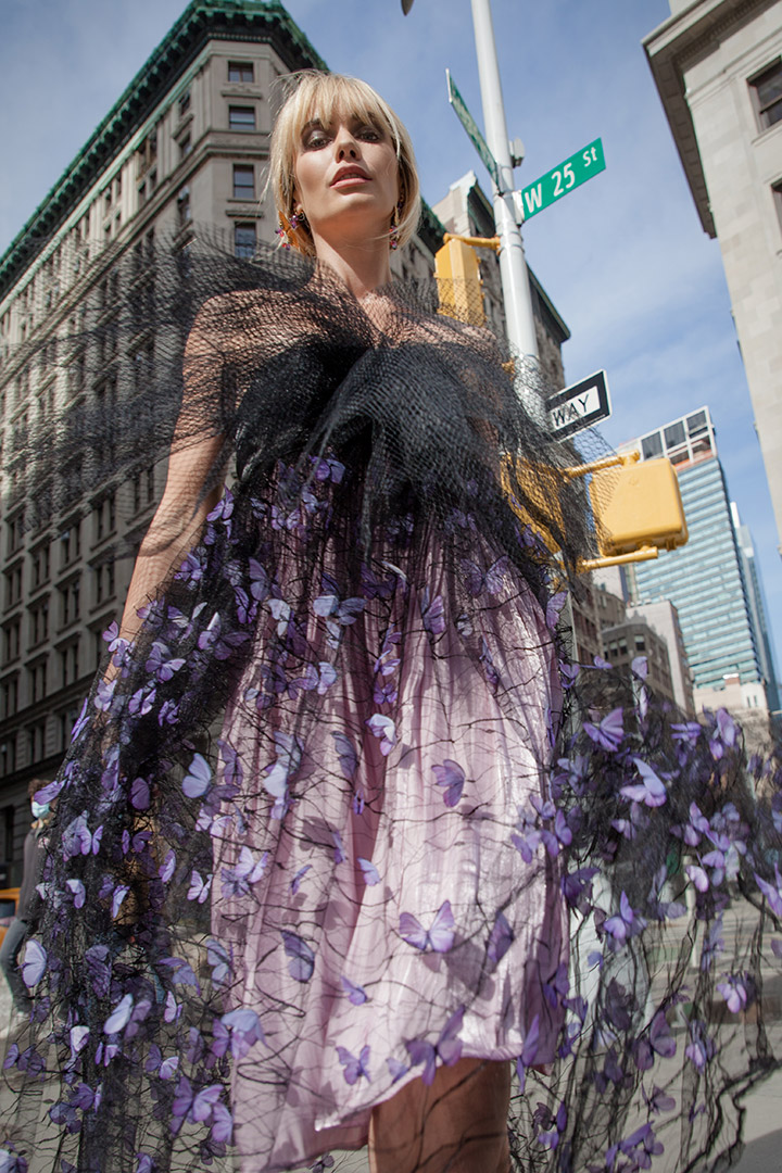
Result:
{"type": "Polygon", "coordinates": [[[489,150],[499,168],[499,188],[495,187],[494,190],[494,211],[501,242],[499,273],[505,301],[508,338],[522,355],[537,359],[538,344],[535,333],[530,280],[524,258],[524,242],[514,211],[514,167],[505,123],[505,107],[502,99],[491,6],[490,0],[471,0],[471,4],[475,50],[481,79],[483,124],[489,150]]]}

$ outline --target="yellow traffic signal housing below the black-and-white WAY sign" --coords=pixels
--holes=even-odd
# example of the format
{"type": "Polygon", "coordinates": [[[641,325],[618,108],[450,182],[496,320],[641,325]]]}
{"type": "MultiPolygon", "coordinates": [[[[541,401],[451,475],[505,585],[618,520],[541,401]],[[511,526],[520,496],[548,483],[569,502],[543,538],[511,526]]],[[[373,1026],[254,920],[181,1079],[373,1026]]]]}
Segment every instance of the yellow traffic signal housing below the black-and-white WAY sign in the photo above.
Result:
{"type": "Polygon", "coordinates": [[[687,541],[679,477],[669,460],[599,469],[590,480],[590,500],[604,557],[647,547],[673,550],[687,541]]]}

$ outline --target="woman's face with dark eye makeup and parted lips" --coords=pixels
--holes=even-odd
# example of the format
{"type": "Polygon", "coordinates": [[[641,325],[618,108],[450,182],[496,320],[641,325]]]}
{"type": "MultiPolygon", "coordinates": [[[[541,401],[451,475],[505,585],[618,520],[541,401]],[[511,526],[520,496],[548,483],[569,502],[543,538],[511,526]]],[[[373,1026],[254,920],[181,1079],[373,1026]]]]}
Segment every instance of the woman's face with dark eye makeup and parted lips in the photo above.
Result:
{"type": "Polygon", "coordinates": [[[374,123],[339,114],[327,127],[308,122],[294,176],[294,208],[304,209],[315,240],[359,243],[388,233],[399,201],[399,163],[387,133],[374,123]]]}

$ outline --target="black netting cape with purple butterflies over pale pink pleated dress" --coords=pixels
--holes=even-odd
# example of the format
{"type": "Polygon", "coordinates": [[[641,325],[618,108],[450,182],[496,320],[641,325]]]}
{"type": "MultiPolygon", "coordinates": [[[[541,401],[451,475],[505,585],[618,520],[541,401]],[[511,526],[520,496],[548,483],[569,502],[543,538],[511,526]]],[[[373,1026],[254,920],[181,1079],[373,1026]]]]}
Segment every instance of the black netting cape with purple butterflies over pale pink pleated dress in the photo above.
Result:
{"type": "Polygon", "coordinates": [[[498,1171],[735,1153],[782,1056],[780,767],[570,663],[576,449],[429,287],[203,240],[114,271],[16,438],[56,472],[27,522],[170,453],[169,488],[39,795],[0,1168],[336,1168],[417,1087],[376,1167],[494,1173],[469,1113],[426,1127],[465,1060],[512,1065],[498,1171]]]}

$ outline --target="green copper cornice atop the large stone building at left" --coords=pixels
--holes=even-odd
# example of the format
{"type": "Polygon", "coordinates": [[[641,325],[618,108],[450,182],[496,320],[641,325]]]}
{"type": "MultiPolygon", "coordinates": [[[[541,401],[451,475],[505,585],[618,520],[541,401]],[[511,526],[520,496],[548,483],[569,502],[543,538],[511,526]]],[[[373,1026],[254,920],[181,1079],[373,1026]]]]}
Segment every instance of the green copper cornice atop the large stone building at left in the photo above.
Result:
{"type": "Polygon", "coordinates": [[[0,257],[0,297],[210,40],[261,41],[290,69],[326,69],[279,0],[192,0],[0,257]]]}

